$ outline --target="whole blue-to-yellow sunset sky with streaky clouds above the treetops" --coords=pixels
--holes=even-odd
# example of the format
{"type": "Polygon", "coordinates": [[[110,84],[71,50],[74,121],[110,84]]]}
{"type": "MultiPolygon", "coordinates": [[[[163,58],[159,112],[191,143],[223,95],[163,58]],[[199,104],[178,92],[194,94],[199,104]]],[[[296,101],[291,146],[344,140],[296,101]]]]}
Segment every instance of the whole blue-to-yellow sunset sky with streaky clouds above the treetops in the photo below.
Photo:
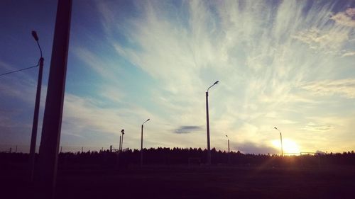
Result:
{"type": "MultiPolygon", "coordinates": [[[[45,59],[56,1],[0,1],[0,74],[45,59]]],[[[73,1],[60,146],[355,149],[355,1],[73,1]],[[277,127],[276,130],[274,127],[277,127]]],[[[0,149],[28,151],[38,68],[0,76],[0,149]],[[20,149],[20,147],[19,147],[20,149]]]]}

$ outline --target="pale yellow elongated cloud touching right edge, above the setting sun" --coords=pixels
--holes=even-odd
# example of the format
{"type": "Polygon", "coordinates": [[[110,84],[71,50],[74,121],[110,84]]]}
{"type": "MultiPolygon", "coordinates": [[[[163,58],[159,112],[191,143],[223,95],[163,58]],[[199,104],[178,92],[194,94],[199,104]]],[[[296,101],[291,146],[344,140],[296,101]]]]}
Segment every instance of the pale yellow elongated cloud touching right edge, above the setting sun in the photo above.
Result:
{"type": "Polygon", "coordinates": [[[355,79],[312,81],[302,85],[302,89],[316,96],[340,94],[345,98],[355,98],[355,79]]]}

